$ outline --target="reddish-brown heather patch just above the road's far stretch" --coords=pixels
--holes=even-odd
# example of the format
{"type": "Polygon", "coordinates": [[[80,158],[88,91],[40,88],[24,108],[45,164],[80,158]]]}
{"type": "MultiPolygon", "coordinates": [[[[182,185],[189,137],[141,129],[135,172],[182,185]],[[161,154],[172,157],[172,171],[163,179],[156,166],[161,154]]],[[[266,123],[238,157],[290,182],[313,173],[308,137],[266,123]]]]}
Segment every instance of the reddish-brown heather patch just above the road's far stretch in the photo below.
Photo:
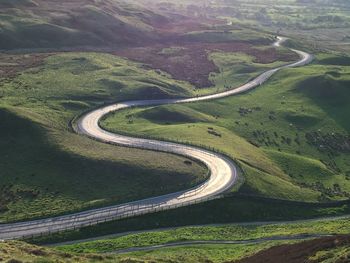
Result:
{"type": "Polygon", "coordinates": [[[217,66],[208,59],[208,53],[213,51],[243,52],[253,56],[255,62],[271,63],[277,60],[290,61],[293,54],[281,54],[275,48],[259,50],[252,45],[242,42],[231,43],[176,43],[159,44],[152,47],[129,48],[115,52],[116,55],[126,57],[148,65],[153,69],[163,70],[173,78],[185,80],[203,88],[210,87],[208,79],[211,72],[218,72],[217,66]],[[179,49],[174,53],[162,53],[164,48],[176,45],[179,49]]]}

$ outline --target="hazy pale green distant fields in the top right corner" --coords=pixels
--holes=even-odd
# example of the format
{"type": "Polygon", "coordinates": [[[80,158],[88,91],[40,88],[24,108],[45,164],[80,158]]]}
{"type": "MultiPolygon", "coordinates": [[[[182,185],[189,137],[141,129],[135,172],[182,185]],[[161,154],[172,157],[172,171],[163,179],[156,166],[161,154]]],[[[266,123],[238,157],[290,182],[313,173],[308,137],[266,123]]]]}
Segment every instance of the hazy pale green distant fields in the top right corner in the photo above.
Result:
{"type": "MultiPolygon", "coordinates": [[[[192,0],[183,2],[193,4],[192,0]]],[[[230,20],[235,27],[287,35],[307,48],[348,53],[349,7],[346,0],[218,0],[210,13],[230,20]]]]}

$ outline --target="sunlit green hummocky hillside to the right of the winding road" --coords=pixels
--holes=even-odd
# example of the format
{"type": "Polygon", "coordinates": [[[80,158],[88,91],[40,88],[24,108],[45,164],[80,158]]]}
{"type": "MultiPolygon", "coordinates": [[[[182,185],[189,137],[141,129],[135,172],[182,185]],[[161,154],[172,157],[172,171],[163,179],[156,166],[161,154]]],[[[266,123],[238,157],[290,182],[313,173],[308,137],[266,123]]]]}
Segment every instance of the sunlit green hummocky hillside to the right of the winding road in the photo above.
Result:
{"type": "Polygon", "coordinates": [[[319,54],[313,65],[283,70],[248,94],[127,109],[101,124],[114,132],[218,149],[243,167],[244,193],[300,201],[346,199],[347,59],[319,54]]]}

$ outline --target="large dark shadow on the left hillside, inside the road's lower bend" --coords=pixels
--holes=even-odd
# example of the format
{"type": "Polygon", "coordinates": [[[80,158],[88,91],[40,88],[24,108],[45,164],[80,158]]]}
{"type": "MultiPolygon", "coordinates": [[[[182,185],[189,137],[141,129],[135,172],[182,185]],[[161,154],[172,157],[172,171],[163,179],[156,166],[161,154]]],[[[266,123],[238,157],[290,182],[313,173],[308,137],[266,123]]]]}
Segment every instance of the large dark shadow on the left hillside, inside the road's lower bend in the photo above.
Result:
{"type": "Polygon", "coordinates": [[[65,152],[49,140],[45,129],[6,109],[0,109],[0,120],[0,212],[11,202],[40,197],[48,202],[59,197],[104,200],[100,205],[121,203],[186,189],[196,180],[170,169],[153,170],[65,152]]]}

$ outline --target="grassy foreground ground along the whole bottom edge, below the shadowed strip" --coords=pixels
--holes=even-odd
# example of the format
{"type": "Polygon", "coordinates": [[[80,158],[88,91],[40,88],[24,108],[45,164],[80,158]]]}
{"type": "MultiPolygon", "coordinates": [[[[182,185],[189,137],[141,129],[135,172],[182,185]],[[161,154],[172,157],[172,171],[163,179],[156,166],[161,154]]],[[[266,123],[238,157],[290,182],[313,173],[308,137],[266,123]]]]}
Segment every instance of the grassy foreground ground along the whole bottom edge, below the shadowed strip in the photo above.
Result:
{"type": "Polygon", "coordinates": [[[346,220],[301,222],[271,225],[222,225],[184,227],[127,234],[71,245],[40,247],[19,241],[0,242],[0,257],[5,262],[347,262],[349,236],[346,220]],[[269,241],[264,238],[309,234],[337,235],[300,241],[269,241]],[[150,251],[115,254],[126,248],[171,244],[183,241],[253,240],[246,244],[206,244],[165,247],[150,251]],[[294,250],[292,255],[286,251],[294,250]],[[302,252],[302,253],[300,253],[302,252]],[[250,261],[251,260],[251,261],[250,261]],[[271,261],[268,261],[271,260],[271,261]],[[293,261],[294,260],[294,261],[293,261]],[[299,261],[298,261],[299,260],[299,261]],[[337,260],[337,261],[336,261],[337,260]]]}

